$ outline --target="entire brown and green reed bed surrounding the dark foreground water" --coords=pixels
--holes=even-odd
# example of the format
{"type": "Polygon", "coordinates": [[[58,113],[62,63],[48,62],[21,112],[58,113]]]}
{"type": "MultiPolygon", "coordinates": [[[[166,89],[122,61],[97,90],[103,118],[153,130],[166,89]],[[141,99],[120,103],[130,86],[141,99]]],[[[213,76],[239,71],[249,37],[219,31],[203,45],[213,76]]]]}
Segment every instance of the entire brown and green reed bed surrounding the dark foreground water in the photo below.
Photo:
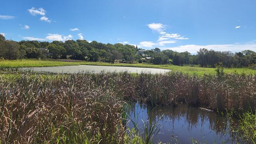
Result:
{"type": "Polygon", "coordinates": [[[256,75],[0,76],[0,143],[143,143],[137,134],[128,135],[125,126],[124,101],[137,98],[152,105],[186,103],[215,111],[255,113],[256,75]]]}

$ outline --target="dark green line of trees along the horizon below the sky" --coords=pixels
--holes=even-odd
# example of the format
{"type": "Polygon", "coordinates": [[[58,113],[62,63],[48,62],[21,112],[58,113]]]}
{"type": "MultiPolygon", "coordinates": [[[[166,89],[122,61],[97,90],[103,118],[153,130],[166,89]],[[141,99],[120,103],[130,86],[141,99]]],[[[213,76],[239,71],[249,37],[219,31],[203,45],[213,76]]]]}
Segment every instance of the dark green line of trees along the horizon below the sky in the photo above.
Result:
{"type": "Polygon", "coordinates": [[[50,58],[76,59],[84,61],[102,61],[108,63],[153,63],[173,65],[200,65],[214,68],[216,65],[224,67],[256,67],[256,52],[244,50],[241,52],[221,52],[201,48],[196,55],[189,52],[175,52],[154,48],[143,50],[129,44],[103,44],[86,40],[62,41],[11,41],[0,35],[0,58],[50,58]]]}

